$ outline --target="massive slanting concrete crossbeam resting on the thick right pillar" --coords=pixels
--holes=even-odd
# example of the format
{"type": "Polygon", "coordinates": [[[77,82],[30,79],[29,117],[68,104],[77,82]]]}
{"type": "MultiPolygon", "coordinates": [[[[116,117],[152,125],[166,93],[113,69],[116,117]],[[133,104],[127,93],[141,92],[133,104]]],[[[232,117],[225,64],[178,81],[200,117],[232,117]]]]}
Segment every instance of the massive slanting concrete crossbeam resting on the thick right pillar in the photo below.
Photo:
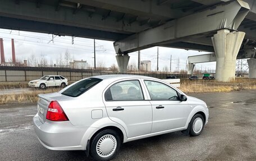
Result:
{"type": "Polygon", "coordinates": [[[133,34],[115,42],[114,47],[116,53],[130,53],[159,44],[180,42],[194,35],[200,36],[220,29],[236,30],[249,10],[248,4],[239,0],[221,4],[133,34]]]}

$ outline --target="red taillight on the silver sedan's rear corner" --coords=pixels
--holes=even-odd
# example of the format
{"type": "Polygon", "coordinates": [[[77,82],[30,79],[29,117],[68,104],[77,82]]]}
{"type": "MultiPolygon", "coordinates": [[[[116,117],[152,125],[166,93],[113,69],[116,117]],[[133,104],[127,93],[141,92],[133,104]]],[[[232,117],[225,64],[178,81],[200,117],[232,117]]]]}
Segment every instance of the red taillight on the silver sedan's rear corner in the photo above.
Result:
{"type": "Polygon", "coordinates": [[[46,119],[51,121],[68,121],[68,118],[61,108],[61,105],[56,101],[53,100],[47,109],[46,119]]]}

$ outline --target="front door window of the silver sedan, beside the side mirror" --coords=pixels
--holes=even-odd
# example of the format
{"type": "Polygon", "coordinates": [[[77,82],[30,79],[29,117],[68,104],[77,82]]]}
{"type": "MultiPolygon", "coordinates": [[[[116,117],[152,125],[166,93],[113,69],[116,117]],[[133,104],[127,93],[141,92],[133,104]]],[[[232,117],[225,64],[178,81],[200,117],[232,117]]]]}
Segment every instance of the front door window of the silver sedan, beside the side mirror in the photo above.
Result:
{"type": "Polygon", "coordinates": [[[144,81],[151,100],[179,100],[177,91],[170,86],[156,81],[144,81]]]}

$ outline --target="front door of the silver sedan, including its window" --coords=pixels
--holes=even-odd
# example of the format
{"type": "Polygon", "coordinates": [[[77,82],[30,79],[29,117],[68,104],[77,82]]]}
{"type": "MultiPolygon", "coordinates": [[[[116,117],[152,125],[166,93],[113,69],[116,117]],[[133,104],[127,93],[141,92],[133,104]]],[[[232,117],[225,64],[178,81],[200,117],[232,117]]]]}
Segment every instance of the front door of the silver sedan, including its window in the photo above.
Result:
{"type": "Polygon", "coordinates": [[[189,105],[181,102],[177,91],[162,82],[144,80],[152,104],[152,133],[185,127],[189,105]]]}

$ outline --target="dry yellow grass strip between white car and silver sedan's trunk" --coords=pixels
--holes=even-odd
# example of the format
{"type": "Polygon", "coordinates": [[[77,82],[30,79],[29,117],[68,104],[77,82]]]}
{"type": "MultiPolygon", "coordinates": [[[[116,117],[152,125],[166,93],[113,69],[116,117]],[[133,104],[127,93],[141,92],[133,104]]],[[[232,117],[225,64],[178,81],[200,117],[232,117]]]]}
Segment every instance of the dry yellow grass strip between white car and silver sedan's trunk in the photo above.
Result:
{"type": "Polygon", "coordinates": [[[60,91],[60,88],[48,88],[46,90],[31,90],[21,94],[6,94],[0,95],[0,104],[17,103],[17,102],[31,102],[35,103],[38,100],[38,94],[54,93],[60,91]]]}

